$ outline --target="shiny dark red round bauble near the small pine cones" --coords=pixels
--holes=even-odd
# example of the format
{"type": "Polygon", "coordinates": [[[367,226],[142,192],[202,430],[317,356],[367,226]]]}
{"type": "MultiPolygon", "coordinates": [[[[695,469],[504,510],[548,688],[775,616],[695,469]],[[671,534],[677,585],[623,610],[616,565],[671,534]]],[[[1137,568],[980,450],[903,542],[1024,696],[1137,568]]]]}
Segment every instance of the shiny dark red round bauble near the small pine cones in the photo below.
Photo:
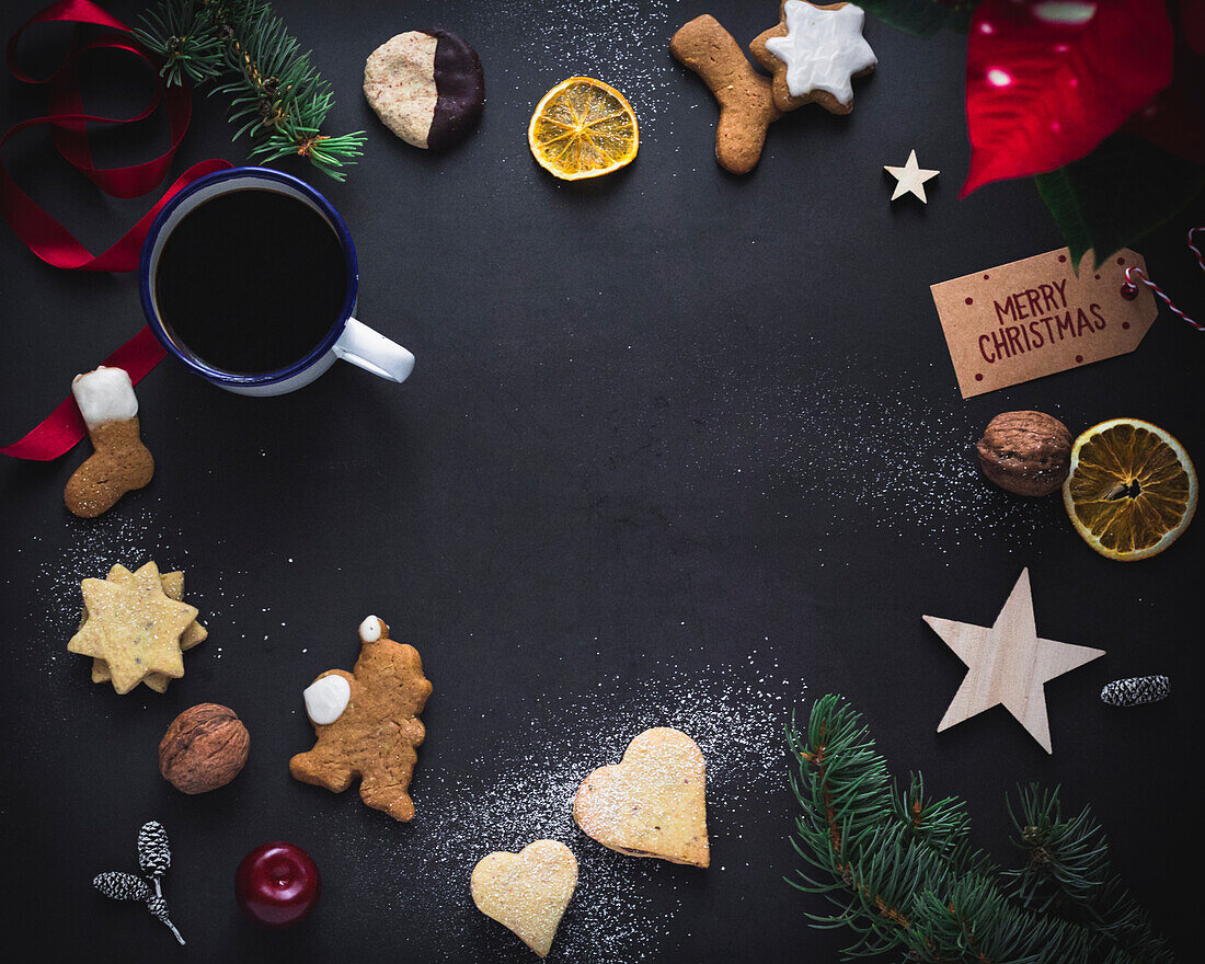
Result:
{"type": "Polygon", "coordinates": [[[292,927],[305,919],[322,893],[322,875],[308,853],[275,841],[242,858],[234,875],[234,895],[252,921],[292,927]]]}

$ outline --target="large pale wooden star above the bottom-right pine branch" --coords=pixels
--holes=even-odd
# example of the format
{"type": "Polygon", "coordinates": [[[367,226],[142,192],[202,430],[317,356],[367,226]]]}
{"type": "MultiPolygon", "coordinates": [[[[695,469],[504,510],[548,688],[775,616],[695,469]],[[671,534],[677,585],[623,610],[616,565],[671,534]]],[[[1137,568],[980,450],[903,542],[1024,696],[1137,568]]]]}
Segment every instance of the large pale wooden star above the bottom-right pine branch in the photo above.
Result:
{"type": "Polygon", "coordinates": [[[924,621],[970,668],[937,733],[1003,704],[1047,753],[1052,751],[1044,684],[1105,654],[1104,649],[1039,639],[1028,569],[1021,571],[991,628],[936,616],[924,621]]]}

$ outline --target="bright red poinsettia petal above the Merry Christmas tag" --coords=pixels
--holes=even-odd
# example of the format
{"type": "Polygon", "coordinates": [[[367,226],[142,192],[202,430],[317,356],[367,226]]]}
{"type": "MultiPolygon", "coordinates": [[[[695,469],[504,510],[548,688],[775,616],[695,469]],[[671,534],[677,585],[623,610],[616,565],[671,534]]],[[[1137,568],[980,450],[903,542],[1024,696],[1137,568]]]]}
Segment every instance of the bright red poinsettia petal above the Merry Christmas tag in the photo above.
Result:
{"type": "Polygon", "coordinates": [[[1164,0],[983,0],[966,48],[963,196],[1078,160],[1171,82],[1164,0]]]}

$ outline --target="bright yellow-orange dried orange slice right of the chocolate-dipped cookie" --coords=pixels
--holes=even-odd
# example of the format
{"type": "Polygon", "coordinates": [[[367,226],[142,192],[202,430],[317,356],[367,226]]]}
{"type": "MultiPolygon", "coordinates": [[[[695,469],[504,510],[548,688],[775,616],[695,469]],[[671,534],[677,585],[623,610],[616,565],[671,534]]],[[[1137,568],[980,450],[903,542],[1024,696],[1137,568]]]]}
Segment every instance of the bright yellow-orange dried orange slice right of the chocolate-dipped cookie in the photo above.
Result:
{"type": "Polygon", "coordinates": [[[578,181],[630,164],[640,131],[631,105],[611,84],[570,77],[536,105],[528,146],[541,167],[564,181],[578,181]]]}

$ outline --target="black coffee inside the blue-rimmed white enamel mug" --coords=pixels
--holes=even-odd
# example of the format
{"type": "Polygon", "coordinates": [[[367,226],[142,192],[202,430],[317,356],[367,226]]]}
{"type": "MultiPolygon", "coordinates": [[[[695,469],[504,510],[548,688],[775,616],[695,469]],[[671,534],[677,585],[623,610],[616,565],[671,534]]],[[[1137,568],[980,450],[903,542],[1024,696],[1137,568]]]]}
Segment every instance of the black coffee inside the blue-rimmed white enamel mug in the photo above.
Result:
{"type": "Polygon", "coordinates": [[[222,371],[258,375],[300,362],[340,321],[347,263],[339,235],[308,204],[243,188],[175,225],[154,293],[183,348],[222,371]]]}

